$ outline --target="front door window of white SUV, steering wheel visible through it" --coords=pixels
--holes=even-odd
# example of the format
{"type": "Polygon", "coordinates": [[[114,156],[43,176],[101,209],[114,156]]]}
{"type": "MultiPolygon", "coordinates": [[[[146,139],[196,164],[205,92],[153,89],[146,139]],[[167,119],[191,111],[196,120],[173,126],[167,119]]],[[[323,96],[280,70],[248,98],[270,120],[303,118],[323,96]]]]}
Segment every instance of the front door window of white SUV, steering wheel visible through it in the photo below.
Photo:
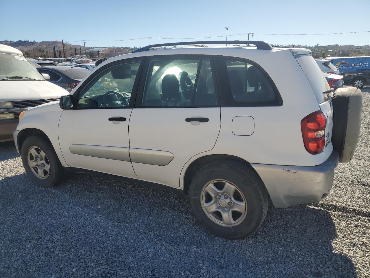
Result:
{"type": "Polygon", "coordinates": [[[131,100],[132,90],[140,62],[122,63],[95,77],[83,88],[78,96],[80,108],[127,107],[131,100]]]}

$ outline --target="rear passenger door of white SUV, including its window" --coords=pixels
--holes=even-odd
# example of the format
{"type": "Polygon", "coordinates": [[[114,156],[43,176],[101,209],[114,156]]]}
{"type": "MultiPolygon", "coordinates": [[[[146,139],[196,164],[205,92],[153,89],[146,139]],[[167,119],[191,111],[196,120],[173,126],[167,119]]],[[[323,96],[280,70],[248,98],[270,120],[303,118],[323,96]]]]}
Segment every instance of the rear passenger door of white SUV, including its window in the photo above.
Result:
{"type": "Polygon", "coordinates": [[[142,76],[129,123],[132,166],[139,179],[179,187],[186,161],[211,150],[220,130],[212,59],[148,57],[142,76]]]}

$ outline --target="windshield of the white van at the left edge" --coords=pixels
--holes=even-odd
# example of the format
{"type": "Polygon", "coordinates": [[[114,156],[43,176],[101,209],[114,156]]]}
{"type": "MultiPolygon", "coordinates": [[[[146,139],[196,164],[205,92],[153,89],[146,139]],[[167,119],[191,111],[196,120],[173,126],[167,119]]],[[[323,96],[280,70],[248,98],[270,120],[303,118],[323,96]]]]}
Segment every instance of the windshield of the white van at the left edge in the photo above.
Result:
{"type": "Polygon", "coordinates": [[[45,80],[26,58],[0,53],[0,80],[45,80]]]}

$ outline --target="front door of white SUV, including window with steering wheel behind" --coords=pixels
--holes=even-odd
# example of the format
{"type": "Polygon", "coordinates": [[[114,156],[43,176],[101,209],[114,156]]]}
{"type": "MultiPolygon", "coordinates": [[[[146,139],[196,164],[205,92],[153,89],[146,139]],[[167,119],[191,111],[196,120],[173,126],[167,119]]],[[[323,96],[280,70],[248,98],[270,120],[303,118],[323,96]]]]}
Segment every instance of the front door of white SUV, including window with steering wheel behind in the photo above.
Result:
{"type": "Polygon", "coordinates": [[[107,64],[74,93],[76,109],[64,110],[59,143],[71,167],[136,178],[129,158],[128,123],[141,59],[107,64]]]}

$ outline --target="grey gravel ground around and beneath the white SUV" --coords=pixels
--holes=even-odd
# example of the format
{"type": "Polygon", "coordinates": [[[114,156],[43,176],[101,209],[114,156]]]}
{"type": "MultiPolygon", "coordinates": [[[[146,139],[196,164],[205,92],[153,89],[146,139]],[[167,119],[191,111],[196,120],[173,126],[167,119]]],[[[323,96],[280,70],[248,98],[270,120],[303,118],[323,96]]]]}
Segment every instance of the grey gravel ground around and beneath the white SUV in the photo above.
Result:
{"type": "Polygon", "coordinates": [[[38,188],[0,143],[0,277],[370,277],[370,87],[355,158],[320,203],[269,209],[242,240],[219,238],[183,196],[73,174],[38,188]]]}

